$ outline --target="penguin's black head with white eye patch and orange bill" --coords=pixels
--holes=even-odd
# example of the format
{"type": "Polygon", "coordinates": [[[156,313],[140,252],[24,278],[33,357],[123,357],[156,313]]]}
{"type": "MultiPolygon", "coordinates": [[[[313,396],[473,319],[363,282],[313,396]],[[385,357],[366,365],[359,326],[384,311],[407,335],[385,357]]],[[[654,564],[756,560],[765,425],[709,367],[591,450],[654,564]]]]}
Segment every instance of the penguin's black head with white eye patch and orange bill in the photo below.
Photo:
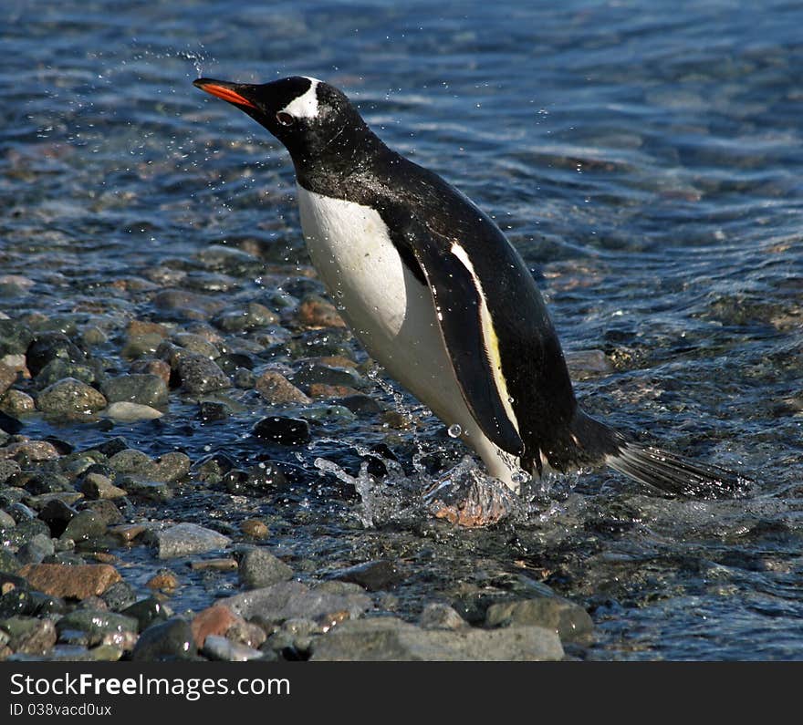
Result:
{"type": "MultiPolygon", "coordinates": [[[[223,98],[268,129],[298,165],[349,156],[349,145],[373,137],[360,113],[338,88],[317,78],[293,76],[271,83],[198,78],[193,85],[223,98]]],[[[375,137],[373,137],[375,138],[375,137]]]]}

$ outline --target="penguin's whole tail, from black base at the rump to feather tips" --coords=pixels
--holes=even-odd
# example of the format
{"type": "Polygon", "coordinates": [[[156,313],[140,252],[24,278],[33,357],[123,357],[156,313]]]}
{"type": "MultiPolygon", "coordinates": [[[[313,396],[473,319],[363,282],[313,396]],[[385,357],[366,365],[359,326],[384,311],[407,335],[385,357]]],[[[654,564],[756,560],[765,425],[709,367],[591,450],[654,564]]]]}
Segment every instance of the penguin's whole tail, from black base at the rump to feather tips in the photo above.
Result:
{"type": "Polygon", "coordinates": [[[636,443],[581,410],[576,412],[571,429],[580,465],[584,461],[604,462],[653,492],[695,498],[741,498],[755,491],[755,482],[740,473],[636,443]]]}

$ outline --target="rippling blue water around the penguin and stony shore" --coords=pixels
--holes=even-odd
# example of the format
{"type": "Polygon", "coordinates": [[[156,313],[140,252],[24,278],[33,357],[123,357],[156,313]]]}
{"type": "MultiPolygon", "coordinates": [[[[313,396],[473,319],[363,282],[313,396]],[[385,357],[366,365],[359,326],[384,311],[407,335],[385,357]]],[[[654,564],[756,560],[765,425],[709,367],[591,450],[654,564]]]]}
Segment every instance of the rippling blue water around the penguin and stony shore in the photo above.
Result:
{"type": "MultiPolygon", "coordinates": [[[[495,216],[568,352],[613,359],[578,384],[590,412],[739,468],[760,490],[666,501],[591,472],[553,482],[546,501],[534,492],[529,517],[490,530],[423,511],[366,529],[359,499],[314,465],[358,475],[348,441],[384,440],[358,420],[299,454],[301,483],[282,502],[221,496],[204,502],[209,515],[276,513],[287,526],[271,544],[299,562],[396,555],[402,616],[466,582],[504,593],[544,581],[592,612],[584,657],[803,658],[803,8],[553,5],[11,0],[0,274],[25,279],[5,278],[0,310],[113,329],[158,318],[147,294],[115,281],[219,285],[228,303],[266,295],[306,264],[291,166],[191,81],[325,78],[391,146],[495,216]],[[266,268],[198,264],[219,243],[262,250],[266,268]]],[[[402,461],[436,444],[459,461],[459,443],[403,404],[423,427],[397,436],[402,461]]],[[[244,408],[224,428],[193,427],[193,409],[172,405],[160,424],[120,430],[151,453],[285,455],[247,438],[244,408]]],[[[79,446],[104,435],[56,430],[79,446]]],[[[177,518],[199,508],[175,506],[177,518]]]]}

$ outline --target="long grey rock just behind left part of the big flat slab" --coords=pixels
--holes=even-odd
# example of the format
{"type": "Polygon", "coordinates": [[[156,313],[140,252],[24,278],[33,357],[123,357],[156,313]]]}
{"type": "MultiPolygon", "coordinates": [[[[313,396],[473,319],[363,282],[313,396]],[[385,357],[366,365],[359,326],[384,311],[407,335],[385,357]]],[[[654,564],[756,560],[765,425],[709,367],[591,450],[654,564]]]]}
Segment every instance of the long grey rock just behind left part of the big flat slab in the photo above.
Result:
{"type": "Polygon", "coordinates": [[[245,619],[259,616],[265,620],[281,621],[294,617],[317,619],[339,612],[356,617],[371,606],[371,601],[366,594],[333,594],[291,580],[229,596],[221,604],[245,619]]]}

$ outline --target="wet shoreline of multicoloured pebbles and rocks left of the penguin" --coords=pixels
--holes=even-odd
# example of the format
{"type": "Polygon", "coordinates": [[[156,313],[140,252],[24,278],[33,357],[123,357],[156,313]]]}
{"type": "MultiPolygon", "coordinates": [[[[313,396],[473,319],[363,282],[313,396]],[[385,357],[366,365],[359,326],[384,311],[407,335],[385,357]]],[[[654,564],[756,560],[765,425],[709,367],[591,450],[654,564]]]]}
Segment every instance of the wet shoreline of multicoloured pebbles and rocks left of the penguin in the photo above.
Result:
{"type": "MultiPolygon", "coordinates": [[[[366,505],[348,475],[299,472],[294,451],[310,441],[355,435],[353,421],[374,430],[374,455],[356,461],[360,480],[368,470],[380,483],[388,467],[401,471],[393,450],[409,456],[411,438],[460,451],[436,421],[412,435],[426,426],[308,268],[252,253],[213,246],[185,269],[168,261],[110,280],[69,315],[0,315],[0,659],[582,657],[586,609],[534,578],[495,588],[478,575],[460,596],[434,587],[431,599],[401,601],[412,570],[393,552],[392,526],[376,529],[384,551],[351,561],[293,553],[292,518],[310,505],[299,489],[331,481],[313,505],[329,494],[366,505]],[[222,290],[266,270],[285,274],[280,288],[226,304],[222,290]],[[110,294],[126,304],[104,306],[110,294]],[[208,442],[229,429],[248,447],[208,442]],[[186,452],[170,442],[176,430],[207,442],[186,452]],[[161,455],[132,442],[151,451],[162,437],[161,455]]],[[[5,302],[19,293],[31,307],[33,281],[5,275],[0,287],[5,302]]],[[[609,365],[601,353],[583,364],[609,365]]],[[[415,535],[459,535],[458,524],[494,524],[515,505],[483,495],[474,508],[422,506],[415,535]]],[[[362,524],[350,525],[359,536],[362,524]]]]}

